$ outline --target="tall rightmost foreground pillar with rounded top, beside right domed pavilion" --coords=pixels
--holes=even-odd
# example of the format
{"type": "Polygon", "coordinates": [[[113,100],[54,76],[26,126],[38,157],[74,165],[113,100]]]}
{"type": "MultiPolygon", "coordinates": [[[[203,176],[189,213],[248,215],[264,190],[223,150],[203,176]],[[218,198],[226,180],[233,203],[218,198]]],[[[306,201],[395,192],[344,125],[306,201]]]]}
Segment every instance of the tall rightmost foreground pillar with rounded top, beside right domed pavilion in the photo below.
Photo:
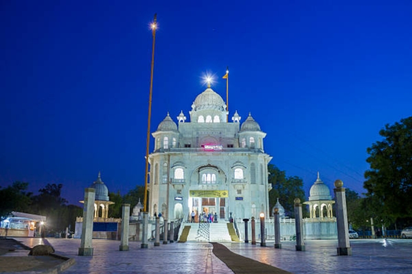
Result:
{"type": "Polygon", "coordinates": [[[336,225],[338,227],[338,255],[352,255],[349,232],[347,229],[346,194],[343,182],[337,179],[334,182],[334,195],[336,198],[336,225]]]}

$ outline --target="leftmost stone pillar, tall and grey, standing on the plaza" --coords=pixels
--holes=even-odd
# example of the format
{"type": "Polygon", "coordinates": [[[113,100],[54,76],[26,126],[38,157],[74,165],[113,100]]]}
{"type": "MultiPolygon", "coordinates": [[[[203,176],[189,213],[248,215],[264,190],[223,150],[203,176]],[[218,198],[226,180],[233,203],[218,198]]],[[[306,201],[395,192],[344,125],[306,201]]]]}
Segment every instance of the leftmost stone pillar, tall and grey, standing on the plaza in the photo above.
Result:
{"type": "Polygon", "coordinates": [[[93,256],[91,238],[93,237],[94,199],[95,189],[86,188],[84,190],[82,240],[78,251],[79,256],[93,256]]]}

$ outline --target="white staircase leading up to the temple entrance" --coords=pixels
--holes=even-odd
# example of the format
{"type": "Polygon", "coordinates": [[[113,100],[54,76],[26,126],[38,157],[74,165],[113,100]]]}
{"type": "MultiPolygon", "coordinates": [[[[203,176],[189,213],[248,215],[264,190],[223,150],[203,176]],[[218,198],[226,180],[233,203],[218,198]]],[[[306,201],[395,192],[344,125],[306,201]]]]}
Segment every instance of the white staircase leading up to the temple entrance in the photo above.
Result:
{"type": "MultiPolygon", "coordinates": [[[[231,242],[227,223],[183,223],[183,230],[187,232],[187,241],[192,242],[231,242]]],[[[185,241],[185,235],[179,235],[179,241],[185,241]]]]}

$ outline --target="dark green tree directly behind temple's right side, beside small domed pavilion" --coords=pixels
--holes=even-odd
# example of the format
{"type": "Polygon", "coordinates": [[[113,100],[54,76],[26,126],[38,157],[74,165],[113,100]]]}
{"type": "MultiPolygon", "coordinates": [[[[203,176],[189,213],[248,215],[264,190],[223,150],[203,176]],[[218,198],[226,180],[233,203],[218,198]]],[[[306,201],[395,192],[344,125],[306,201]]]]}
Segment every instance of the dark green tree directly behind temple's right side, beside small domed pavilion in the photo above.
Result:
{"type": "Polygon", "coordinates": [[[301,202],[305,201],[303,180],[297,176],[286,177],[286,171],[281,171],[273,164],[268,165],[268,172],[268,182],[272,184],[272,189],[269,191],[270,210],[272,211],[279,198],[279,203],[284,207],[286,216],[293,218],[295,216],[294,200],[299,198],[301,202]]]}

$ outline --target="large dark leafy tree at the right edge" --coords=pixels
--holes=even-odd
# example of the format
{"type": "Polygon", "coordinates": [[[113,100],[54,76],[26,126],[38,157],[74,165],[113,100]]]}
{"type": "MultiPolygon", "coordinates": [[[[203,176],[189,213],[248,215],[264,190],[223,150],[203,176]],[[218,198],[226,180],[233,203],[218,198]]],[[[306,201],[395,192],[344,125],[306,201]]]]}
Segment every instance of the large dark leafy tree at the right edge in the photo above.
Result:
{"type": "Polygon", "coordinates": [[[367,148],[370,169],[364,188],[375,214],[397,220],[412,216],[412,116],[379,132],[384,140],[367,148]]]}

